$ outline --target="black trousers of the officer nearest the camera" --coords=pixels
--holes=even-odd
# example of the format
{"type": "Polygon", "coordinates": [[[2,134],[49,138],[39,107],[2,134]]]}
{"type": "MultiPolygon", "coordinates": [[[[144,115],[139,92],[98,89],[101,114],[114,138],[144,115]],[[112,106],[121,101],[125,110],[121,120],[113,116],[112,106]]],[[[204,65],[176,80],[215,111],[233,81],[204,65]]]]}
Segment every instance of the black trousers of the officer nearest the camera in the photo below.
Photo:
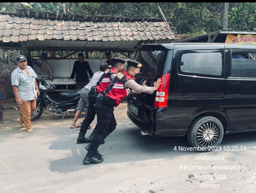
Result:
{"type": "Polygon", "coordinates": [[[116,120],[114,116],[114,106],[108,105],[104,97],[100,97],[95,103],[95,110],[97,114],[96,135],[94,136],[89,151],[86,154],[92,158],[98,150],[100,143],[116,128],[116,120]]]}

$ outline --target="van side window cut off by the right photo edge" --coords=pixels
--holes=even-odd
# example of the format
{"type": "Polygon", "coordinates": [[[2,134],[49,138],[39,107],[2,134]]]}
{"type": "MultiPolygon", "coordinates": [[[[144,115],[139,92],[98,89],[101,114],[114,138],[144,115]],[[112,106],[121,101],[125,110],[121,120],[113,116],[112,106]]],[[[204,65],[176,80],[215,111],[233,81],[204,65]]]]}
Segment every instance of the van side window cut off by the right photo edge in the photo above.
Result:
{"type": "Polygon", "coordinates": [[[231,77],[256,78],[256,53],[233,52],[231,55],[231,77]]]}

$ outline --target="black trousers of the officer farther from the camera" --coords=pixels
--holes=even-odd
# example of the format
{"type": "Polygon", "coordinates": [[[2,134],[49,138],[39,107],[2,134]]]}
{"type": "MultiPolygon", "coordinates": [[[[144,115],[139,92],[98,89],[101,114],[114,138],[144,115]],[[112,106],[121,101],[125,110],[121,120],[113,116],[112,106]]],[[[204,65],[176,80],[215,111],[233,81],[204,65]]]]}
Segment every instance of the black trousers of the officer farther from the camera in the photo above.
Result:
{"type": "Polygon", "coordinates": [[[88,104],[88,111],[87,111],[87,116],[85,117],[85,120],[83,121],[81,128],[80,128],[80,132],[87,132],[88,127],[90,126],[90,124],[93,122],[96,112],[95,112],[95,107],[94,104],[96,103],[96,96],[98,96],[99,93],[96,92],[94,94],[92,94],[91,92],[89,92],[88,94],[88,99],[89,99],[89,104],[88,104]]]}

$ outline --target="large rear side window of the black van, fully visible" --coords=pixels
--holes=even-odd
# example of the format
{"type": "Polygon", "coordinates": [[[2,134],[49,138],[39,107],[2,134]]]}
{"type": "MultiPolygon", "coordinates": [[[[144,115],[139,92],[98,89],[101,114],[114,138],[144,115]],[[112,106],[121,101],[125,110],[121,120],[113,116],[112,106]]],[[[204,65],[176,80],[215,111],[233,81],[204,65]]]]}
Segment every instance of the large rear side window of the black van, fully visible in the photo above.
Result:
{"type": "Polygon", "coordinates": [[[178,73],[190,76],[224,77],[223,50],[181,51],[178,73]]]}

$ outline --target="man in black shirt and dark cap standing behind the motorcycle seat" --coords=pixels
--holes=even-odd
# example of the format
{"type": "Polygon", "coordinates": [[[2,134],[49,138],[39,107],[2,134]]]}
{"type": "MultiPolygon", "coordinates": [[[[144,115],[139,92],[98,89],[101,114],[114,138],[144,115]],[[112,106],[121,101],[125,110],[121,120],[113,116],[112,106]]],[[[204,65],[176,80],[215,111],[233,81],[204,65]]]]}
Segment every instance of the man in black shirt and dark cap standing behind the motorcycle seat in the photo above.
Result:
{"type": "Polygon", "coordinates": [[[93,71],[90,68],[89,62],[84,61],[83,53],[79,53],[78,60],[74,62],[71,77],[68,79],[73,79],[76,75],[75,87],[77,89],[82,89],[89,83],[87,71],[89,72],[90,76],[93,77],[93,71]]]}

